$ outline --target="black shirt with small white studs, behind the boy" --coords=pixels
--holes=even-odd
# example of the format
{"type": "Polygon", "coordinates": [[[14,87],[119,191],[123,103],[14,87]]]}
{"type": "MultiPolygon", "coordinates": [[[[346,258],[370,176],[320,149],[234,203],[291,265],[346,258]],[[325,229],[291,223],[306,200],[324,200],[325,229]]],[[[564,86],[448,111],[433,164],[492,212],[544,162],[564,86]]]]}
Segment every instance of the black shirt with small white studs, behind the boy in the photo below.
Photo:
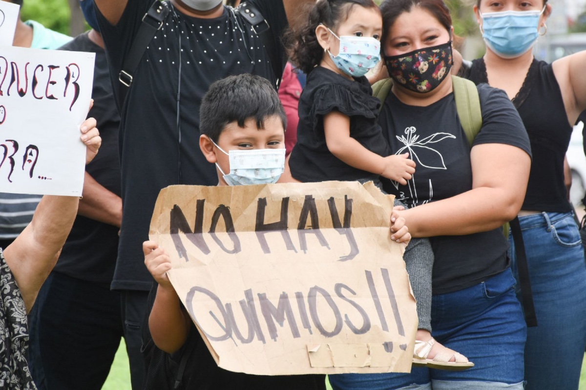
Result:
{"type": "MultiPolygon", "coordinates": [[[[115,94],[120,87],[118,74],[124,58],[152,2],[128,0],[116,26],[110,25],[97,11],[115,94]]],[[[267,20],[277,57],[283,58],[280,37],[287,27],[287,15],[282,1],[248,2],[267,20]]],[[[224,7],[219,18],[200,19],[183,15],[171,4],[169,7],[171,12],[145,50],[121,110],[124,215],[113,289],[148,291],[151,287],[152,277],[144,265],[142,242],[148,240],[159,190],[173,184],[217,184],[214,165],[205,160],[199,149],[199,107],[209,85],[242,73],[276,81],[260,37],[241,16],[224,7]],[[177,126],[179,63],[180,133],[177,126]]]]}

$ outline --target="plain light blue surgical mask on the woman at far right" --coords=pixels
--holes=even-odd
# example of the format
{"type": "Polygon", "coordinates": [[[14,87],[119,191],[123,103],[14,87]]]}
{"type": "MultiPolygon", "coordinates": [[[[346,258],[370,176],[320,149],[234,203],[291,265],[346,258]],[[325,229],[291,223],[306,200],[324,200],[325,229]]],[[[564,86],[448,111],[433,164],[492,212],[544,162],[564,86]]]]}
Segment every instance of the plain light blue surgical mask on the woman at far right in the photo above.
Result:
{"type": "Polygon", "coordinates": [[[481,13],[481,32],[486,46],[502,58],[527,53],[539,37],[539,18],[545,11],[501,11],[481,13]]]}

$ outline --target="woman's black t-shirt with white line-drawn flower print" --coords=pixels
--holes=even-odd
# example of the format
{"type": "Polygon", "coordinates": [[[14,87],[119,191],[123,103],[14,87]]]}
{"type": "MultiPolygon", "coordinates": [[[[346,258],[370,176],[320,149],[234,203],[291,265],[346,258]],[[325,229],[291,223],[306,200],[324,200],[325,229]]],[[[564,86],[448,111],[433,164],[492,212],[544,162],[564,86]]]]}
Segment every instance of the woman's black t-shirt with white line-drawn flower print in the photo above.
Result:
{"type": "MultiPolygon", "coordinates": [[[[473,145],[502,143],[530,154],[529,139],[504,91],[478,85],[482,129],[473,145]]],[[[390,92],[379,121],[391,150],[408,152],[417,167],[407,185],[383,180],[384,189],[408,207],[451,198],[472,189],[468,139],[454,94],[427,107],[400,102],[390,92]]],[[[433,292],[445,294],[478,284],[508,265],[502,229],[466,236],[430,237],[434,250],[433,292]]]]}

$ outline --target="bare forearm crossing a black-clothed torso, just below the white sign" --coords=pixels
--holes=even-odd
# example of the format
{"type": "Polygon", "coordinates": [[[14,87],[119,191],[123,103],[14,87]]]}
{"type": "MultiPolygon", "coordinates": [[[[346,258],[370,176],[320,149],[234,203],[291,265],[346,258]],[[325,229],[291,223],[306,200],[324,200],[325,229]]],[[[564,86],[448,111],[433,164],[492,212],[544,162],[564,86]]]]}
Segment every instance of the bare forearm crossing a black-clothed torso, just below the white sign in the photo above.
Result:
{"type": "Polygon", "coordinates": [[[120,227],[122,223],[122,199],[108,191],[86,172],[83,182],[83,199],[77,213],[81,216],[120,227]]]}

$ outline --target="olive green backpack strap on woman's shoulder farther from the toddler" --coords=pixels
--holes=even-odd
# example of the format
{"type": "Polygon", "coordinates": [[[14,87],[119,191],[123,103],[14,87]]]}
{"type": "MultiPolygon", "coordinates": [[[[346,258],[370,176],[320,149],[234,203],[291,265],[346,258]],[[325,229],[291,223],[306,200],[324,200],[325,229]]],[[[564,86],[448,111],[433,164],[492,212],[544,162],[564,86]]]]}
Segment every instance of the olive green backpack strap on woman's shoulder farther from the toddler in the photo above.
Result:
{"type": "Polygon", "coordinates": [[[472,147],[474,139],[482,127],[482,110],[476,84],[465,78],[452,76],[454,99],[460,123],[464,128],[468,144],[472,147]]]}

